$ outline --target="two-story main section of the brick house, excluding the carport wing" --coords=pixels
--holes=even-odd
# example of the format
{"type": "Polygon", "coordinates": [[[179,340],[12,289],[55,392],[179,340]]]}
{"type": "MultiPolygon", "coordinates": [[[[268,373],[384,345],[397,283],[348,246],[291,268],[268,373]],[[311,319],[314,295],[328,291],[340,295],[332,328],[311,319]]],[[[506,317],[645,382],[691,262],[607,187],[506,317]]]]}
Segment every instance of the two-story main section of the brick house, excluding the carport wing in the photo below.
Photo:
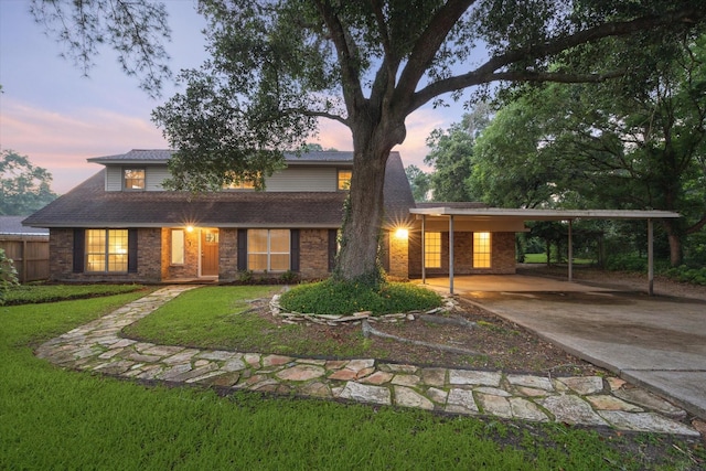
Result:
{"type": "MultiPolygon", "coordinates": [[[[246,270],[329,276],[352,152],[287,154],[287,168],[266,179],[265,191],[240,185],[204,194],[162,188],[170,156],[132,150],[88,159],[105,168],[24,221],[50,229],[51,279],[231,281],[246,270]]],[[[415,203],[398,152],[386,172],[386,215],[407,221],[415,203]]],[[[406,277],[406,267],[396,275],[406,277]]]]}

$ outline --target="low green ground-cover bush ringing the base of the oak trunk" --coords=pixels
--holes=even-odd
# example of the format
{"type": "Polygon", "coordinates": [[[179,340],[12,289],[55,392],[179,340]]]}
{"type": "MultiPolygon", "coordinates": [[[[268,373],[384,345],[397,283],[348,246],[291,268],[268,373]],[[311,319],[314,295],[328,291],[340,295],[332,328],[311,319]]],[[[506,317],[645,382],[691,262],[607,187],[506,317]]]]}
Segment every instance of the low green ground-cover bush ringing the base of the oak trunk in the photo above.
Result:
{"type": "Polygon", "coordinates": [[[281,296],[280,303],[291,312],[352,314],[372,311],[379,315],[432,309],[441,306],[441,297],[404,282],[386,282],[378,290],[373,290],[360,283],[328,279],[290,289],[281,296]]]}

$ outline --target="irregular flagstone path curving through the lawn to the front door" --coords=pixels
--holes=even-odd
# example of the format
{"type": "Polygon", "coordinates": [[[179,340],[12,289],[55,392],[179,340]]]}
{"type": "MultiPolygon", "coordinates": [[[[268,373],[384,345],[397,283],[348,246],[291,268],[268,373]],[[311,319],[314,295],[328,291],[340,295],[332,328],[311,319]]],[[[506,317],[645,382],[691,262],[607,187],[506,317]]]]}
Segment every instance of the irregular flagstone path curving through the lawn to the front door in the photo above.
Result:
{"type": "Polygon", "coordinates": [[[681,421],[686,417],[684,410],[616,377],[517,375],[372,358],[296,358],[157,345],[119,336],[124,327],[192,288],[160,289],[42,344],[35,354],[66,368],[139,379],[699,436],[681,421]]]}

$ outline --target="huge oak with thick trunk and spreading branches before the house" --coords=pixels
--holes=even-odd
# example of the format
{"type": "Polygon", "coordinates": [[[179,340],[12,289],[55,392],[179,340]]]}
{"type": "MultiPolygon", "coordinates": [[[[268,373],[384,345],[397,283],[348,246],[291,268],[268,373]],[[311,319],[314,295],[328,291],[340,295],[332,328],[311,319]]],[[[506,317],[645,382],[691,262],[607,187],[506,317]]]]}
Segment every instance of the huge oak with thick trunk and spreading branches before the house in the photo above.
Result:
{"type": "Polygon", "coordinates": [[[561,55],[589,55],[584,46],[605,39],[649,30],[653,34],[642,38],[649,43],[700,26],[706,6],[202,0],[200,11],[213,58],[186,72],[186,90],[154,113],[179,149],[172,185],[207,189],[238,174],[264,178],[281,163],[282,150],[300,148],[318,118],[336,120],[351,130],[354,161],[334,277],[377,285],[385,164],[405,140],[409,114],[496,81],[600,82],[622,74],[549,64],[561,55]],[[475,66],[469,57],[479,43],[490,58],[475,66]]]}

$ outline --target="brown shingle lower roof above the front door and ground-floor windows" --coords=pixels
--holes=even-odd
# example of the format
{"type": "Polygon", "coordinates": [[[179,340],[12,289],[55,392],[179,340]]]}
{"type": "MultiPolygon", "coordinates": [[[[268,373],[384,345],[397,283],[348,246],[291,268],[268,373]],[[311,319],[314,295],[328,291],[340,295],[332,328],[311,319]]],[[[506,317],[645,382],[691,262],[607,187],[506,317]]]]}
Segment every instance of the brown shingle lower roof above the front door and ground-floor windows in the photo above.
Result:
{"type": "MultiPolygon", "coordinates": [[[[153,152],[153,151],[150,151],[153,152]]],[[[129,153],[129,152],[128,152],[129,153]]],[[[339,227],[344,192],[106,192],[101,170],[34,213],[36,227],[339,227]]],[[[398,152],[385,182],[388,217],[407,217],[414,199],[398,152]],[[403,180],[404,179],[404,180],[403,180]]]]}

